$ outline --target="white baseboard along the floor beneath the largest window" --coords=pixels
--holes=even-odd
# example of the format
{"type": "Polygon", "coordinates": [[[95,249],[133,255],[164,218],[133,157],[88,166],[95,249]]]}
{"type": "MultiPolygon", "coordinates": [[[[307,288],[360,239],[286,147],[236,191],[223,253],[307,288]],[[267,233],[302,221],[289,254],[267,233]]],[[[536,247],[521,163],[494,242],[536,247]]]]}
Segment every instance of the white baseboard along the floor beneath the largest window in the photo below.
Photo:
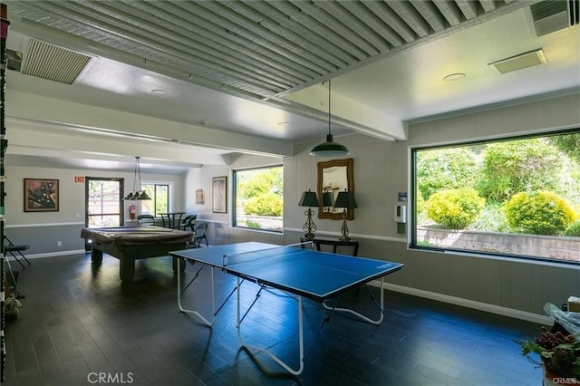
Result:
{"type": "MultiPolygon", "coordinates": [[[[380,287],[380,281],[373,281],[371,285],[380,287]]],[[[513,308],[502,307],[496,304],[488,304],[482,302],[476,302],[474,300],[464,299],[457,296],[450,296],[449,294],[437,294],[430,291],[420,290],[417,288],[406,287],[404,285],[393,285],[391,283],[384,283],[384,288],[394,291],[400,292],[402,294],[411,294],[414,296],[420,296],[431,300],[436,300],[443,303],[455,304],[460,305],[462,307],[473,308],[479,311],[484,311],[486,313],[491,314],[499,314],[503,316],[508,316],[511,318],[525,320],[527,322],[544,324],[544,325],[552,325],[554,320],[547,315],[540,315],[540,314],[532,314],[526,311],[515,310],[513,308]]]]}

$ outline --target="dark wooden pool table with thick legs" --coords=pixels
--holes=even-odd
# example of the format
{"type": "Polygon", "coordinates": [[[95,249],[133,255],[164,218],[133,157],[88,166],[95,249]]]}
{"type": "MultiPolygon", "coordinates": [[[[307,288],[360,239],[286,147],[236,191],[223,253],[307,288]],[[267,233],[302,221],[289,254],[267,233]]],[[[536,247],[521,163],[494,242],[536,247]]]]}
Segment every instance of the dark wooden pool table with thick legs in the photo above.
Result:
{"type": "MultiPolygon", "coordinates": [[[[102,262],[102,253],[119,259],[119,276],[122,281],[131,281],[135,275],[135,260],[168,256],[169,251],[186,249],[193,240],[193,232],[166,227],[98,227],[82,228],[81,237],[91,243],[92,264],[102,262]]],[[[177,259],[173,257],[173,270],[177,270],[177,259]]],[[[185,264],[180,264],[182,270],[185,264]]]]}

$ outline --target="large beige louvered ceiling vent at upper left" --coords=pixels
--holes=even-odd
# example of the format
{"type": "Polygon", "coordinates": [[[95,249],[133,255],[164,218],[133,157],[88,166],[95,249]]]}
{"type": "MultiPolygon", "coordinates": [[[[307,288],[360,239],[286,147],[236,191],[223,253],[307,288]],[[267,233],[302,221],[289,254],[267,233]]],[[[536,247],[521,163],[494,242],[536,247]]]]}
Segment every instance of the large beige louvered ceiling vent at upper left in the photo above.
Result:
{"type": "Polygon", "coordinates": [[[24,54],[22,73],[72,84],[90,61],[91,56],[31,39],[24,54]]]}

